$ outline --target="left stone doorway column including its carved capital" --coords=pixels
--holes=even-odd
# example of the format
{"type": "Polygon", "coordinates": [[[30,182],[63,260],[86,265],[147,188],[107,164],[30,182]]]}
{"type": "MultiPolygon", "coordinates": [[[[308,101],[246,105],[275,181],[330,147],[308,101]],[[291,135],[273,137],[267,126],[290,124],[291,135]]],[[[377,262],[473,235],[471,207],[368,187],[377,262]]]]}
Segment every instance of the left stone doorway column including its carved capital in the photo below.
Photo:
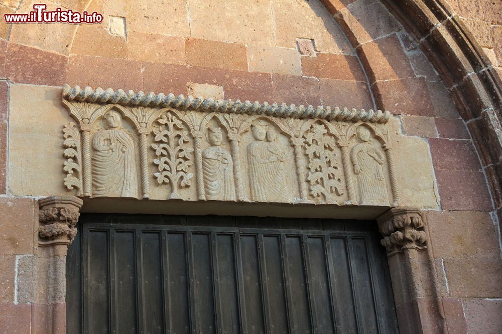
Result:
{"type": "Polygon", "coordinates": [[[82,200],[51,196],[39,200],[34,333],[66,332],[66,250],[75,238],[82,200]]]}

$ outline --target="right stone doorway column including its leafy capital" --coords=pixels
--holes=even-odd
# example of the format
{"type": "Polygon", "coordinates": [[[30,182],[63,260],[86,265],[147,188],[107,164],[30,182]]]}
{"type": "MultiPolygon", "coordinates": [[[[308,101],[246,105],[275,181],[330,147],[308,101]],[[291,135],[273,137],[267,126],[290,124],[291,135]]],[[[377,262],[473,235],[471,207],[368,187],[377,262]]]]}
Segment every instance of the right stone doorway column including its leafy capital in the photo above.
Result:
{"type": "Polygon", "coordinates": [[[381,244],[387,249],[400,332],[446,332],[424,213],[398,207],[377,220],[384,236],[381,244]]]}

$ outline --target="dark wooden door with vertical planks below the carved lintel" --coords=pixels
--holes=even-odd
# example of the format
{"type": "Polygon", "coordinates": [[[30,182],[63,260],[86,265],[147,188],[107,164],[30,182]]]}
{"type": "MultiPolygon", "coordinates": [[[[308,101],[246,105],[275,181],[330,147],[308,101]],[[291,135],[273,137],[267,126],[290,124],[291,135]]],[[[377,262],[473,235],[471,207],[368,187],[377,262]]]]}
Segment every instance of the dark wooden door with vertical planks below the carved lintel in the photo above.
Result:
{"type": "Polygon", "coordinates": [[[67,258],[69,333],[397,332],[374,222],[80,221],[67,258]]]}

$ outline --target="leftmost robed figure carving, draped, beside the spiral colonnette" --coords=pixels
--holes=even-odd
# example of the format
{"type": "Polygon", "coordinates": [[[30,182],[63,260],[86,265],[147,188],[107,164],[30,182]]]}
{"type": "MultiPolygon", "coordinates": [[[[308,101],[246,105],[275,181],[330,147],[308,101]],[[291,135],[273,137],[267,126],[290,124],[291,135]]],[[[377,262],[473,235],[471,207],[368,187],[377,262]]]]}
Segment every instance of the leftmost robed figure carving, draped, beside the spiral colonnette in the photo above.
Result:
{"type": "Polygon", "coordinates": [[[122,118],[116,111],[103,116],[106,130],[92,140],[92,187],[94,196],[138,196],[135,143],[121,129],[122,118]]]}

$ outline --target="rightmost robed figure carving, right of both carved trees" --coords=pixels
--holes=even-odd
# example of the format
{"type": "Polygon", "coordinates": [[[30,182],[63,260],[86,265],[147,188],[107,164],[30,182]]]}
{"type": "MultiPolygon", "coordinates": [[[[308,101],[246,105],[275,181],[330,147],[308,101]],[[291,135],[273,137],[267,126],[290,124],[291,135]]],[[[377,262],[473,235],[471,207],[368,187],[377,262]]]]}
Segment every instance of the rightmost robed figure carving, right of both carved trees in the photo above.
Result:
{"type": "Polygon", "coordinates": [[[359,201],[364,204],[387,204],[387,183],[384,177],[384,154],[369,139],[371,132],[365,126],[356,129],[361,141],[352,148],[350,160],[359,186],[359,201]]]}

